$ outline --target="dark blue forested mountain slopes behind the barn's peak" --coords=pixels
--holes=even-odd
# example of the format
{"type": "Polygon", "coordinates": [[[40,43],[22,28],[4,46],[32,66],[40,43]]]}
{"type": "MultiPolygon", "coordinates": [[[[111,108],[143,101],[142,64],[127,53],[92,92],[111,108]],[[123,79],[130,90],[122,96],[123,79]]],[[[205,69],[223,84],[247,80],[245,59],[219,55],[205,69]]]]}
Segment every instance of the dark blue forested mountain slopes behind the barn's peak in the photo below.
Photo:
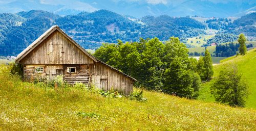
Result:
{"type": "MultiPolygon", "coordinates": [[[[205,25],[187,17],[174,18],[167,15],[153,17],[153,21],[134,19],[108,10],[77,15],[58,16],[41,10],[18,12],[12,19],[23,21],[19,25],[2,23],[1,56],[15,56],[52,25],[57,24],[84,48],[95,49],[102,42],[136,41],[142,38],[159,37],[167,40],[171,36],[185,41],[187,37],[204,34],[205,25]],[[144,21],[144,22],[143,22],[144,21]],[[4,32],[4,33],[3,33],[4,32]]],[[[1,19],[6,19],[4,14],[1,19]]]]}

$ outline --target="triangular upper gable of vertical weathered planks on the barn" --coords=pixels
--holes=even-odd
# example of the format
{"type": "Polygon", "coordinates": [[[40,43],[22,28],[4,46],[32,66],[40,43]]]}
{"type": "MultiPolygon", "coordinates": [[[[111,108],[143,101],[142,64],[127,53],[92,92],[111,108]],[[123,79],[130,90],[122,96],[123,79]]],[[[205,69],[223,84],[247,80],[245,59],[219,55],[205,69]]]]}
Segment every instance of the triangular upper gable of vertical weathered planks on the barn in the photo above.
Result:
{"type": "Polygon", "coordinates": [[[20,63],[25,65],[93,64],[93,60],[56,30],[35,47],[20,63]]]}

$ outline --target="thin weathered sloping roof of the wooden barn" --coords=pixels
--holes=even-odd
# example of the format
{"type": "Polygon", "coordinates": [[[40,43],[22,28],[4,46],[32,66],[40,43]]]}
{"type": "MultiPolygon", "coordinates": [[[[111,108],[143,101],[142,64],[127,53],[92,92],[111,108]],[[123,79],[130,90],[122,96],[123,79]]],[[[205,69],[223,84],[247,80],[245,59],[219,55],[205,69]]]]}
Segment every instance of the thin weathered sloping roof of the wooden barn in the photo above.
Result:
{"type": "Polygon", "coordinates": [[[87,56],[89,56],[91,59],[93,59],[94,62],[100,62],[116,71],[118,71],[119,73],[130,77],[132,80],[136,81],[135,78],[131,77],[130,75],[127,75],[121,71],[119,71],[118,69],[98,60],[97,58],[95,58],[94,56],[92,56],[90,53],[88,53],[88,51],[86,51],[86,49],[84,49],[83,47],[81,47],[78,43],[76,43],[69,35],[67,35],[64,31],[62,31],[58,25],[53,25],[50,29],[48,29],[44,34],[42,34],[40,37],[38,37],[33,43],[31,43],[26,49],[24,49],[15,59],[15,62],[18,63],[20,60],[22,60],[24,57],[26,57],[37,45],[39,45],[42,41],[44,41],[48,36],[50,36],[54,31],[59,31],[62,35],[64,35],[65,37],[67,37],[74,45],[76,45],[79,49],[81,49],[83,51],[84,54],[86,54],[87,56]]]}

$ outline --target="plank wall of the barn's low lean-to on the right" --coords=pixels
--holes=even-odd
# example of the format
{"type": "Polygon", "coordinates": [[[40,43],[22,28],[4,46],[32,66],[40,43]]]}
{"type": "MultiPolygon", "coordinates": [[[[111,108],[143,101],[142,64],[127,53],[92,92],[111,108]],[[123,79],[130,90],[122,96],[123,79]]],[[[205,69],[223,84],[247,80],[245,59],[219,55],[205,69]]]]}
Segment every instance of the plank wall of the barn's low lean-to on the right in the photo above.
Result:
{"type": "Polygon", "coordinates": [[[91,82],[103,90],[118,90],[128,95],[133,92],[133,80],[102,63],[91,65],[91,82]]]}

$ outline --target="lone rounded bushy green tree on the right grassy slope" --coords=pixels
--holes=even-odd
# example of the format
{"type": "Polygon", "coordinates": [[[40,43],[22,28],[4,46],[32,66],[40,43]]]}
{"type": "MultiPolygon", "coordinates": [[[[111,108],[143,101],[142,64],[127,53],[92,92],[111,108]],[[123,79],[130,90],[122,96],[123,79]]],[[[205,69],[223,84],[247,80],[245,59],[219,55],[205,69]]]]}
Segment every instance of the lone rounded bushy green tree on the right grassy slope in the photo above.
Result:
{"type": "Polygon", "coordinates": [[[222,66],[219,76],[211,85],[211,93],[218,102],[245,106],[248,87],[242,74],[238,72],[237,65],[222,66]]]}

